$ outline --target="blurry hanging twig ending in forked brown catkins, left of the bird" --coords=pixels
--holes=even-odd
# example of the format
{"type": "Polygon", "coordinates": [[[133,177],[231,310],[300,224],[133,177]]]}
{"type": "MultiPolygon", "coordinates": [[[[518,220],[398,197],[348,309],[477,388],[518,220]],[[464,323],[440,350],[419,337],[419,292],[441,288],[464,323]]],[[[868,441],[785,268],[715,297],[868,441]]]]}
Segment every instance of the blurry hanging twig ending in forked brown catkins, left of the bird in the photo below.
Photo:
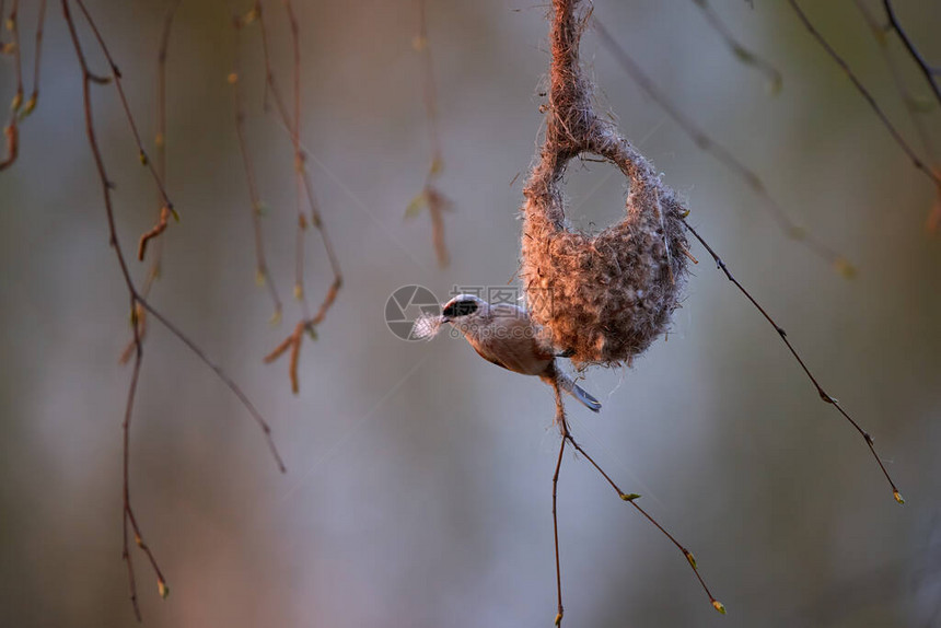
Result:
{"type": "MultiPolygon", "coordinates": [[[[242,18],[236,18],[236,31],[243,26],[257,23],[262,32],[262,49],[265,59],[265,109],[268,111],[269,103],[275,103],[275,117],[280,126],[288,132],[291,139],[294,156],[294,181],[297,186],[297,211],[298,211],[298,236],[297,236],[297,258],[295,258],[295,275],[294,275],[294,296],[301,306],[301,319],[294,326],[293,332],[288,335],[284,340],[278,345],[274,351],[265,357],[265,363],[271,363],[288,352],[290,349],[290,359],[288,363],[288,375],[291,381],[291,391],[294,394],[300,392],[300,379],[298,376],[298,364],[300,362],[301,346],[304,341],[304,336],[309,335],[316,339],[316,328],[326,317],[327,312],[333,306],[342,287],[342,275],[340,274],[339,260],[330,240],[326,225],[324,224],[321,211],[317,207],[316,197],[314,196],[314,186],[311,181],[311,175],[306,168],[306,153],[301,146],[301,49],[300,49],[300,28],[297,15],[291,0],[283,0],[284,13],[288,18],[288,24],[291,31],[291,49],[293,55],[292,67],[292,88],[293,88],[293,115],[288,112],[284,98],[275,79],[274,66],[271,62],[271,54],[268,45],[268,32],[266,25],[266,14],[263,11],[260,0],[256,0],[252,9],[242,18]],[[327,255],[327,260],[330,265],[330,271],[334,279],[329,288],[321,301],[320,307],[315,313],[311,313],[304,291],[304,236],[307,229],[307,214],[304,213],[303,203],[306,202],[310,221],[316,228],[321,235],[321,243],[327,255]]],[[[237,74],[235,80],[237,82],[237,74]]],[[[231,80],[231,75],[230,75],[231,80]]],[[[237,115],[237,114],[236,114],[237,115]]],[[[241,127],[240,127],[241,129],[241,127]]],[[[240,133],[242,131],[240,130],[240,133]]],[[[243,156],[247,153],[243,149],[243,156]]],[[[257,251],[257,249],[256,249],[257,251]]]]}

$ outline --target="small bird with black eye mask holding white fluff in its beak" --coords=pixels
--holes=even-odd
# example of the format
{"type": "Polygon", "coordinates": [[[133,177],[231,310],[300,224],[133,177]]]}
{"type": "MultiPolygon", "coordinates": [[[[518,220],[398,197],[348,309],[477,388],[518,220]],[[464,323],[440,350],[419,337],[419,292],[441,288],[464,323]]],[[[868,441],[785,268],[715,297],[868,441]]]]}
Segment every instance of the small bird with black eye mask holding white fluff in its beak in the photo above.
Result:
{"type": "Polygon", "coordinates": [[[445,303],[441,316],[434,318],[417,323],[419,337],[433,336],[438,326],[449,323],[488,362],[523,375],[538,375],[549,385],[557,381],[588,409],[593,412],[601,409],[597,399],[556,367],[556,358],[565,356],[556,356],[539,346],[538,328],[524,309],[509,303],[491,305],[473,294],[458,294],[445,303]]]}

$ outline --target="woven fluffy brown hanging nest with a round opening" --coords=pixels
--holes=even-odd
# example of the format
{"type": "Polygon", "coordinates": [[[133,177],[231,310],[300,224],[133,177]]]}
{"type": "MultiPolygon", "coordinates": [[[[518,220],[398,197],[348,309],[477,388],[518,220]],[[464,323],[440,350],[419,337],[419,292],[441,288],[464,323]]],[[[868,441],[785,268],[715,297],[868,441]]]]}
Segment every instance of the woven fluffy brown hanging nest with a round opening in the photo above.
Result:
{"type": "Polygon", "coordinates": [[[688,211],[617,128],[600,118],[579,67],[590,18],[578,0],[554,0],[553,61],[545,142],[523,194],[522,270],[533,318],[546,341],[579,368],[617,365],[666,330],[686,274],[688,211]],[[628,178],[626,216],[596,235],[566,219],[560,181],[568,162],[592,153],[628,178]]]}

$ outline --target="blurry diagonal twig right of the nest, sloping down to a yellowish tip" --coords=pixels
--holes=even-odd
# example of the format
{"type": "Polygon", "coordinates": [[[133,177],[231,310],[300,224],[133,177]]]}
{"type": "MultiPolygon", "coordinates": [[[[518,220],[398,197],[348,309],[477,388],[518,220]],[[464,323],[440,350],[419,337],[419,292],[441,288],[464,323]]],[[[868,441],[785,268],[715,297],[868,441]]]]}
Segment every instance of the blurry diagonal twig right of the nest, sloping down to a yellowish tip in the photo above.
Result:
{"type": "Polygon", "coordinates": [[[851,278],[856,275],[856,267],[843,255],[834,251],[830,246],[820,240],[814,233],[799,225],[788,216],[788,212],[778,203],[770,195],[762,178],[742,161],[740,161],[732,152],[709,137],[701,127],[697,126],[690,118],[681,112],[666,95],[660,91],[660,88],[640,69],[640,66],[627,54],[617,40],[612,37],[607,28],[602,24],[601,20],[594,19],[592,25],[600,35],[600,40],[604,48],[615,58],[621,69],[640,86],[641,90],[657,102],[661,108],[671,117],[676,125],[686,132],[693,142],[702,151],[711,154],[716,160],[725,165],[729,170],[735,173],[739,178],[757,195],[763,206],[770,212],[778,230],[795,242],[801,243],[811,253],[826,260],[837,272],[846,278],[851,278]]]}

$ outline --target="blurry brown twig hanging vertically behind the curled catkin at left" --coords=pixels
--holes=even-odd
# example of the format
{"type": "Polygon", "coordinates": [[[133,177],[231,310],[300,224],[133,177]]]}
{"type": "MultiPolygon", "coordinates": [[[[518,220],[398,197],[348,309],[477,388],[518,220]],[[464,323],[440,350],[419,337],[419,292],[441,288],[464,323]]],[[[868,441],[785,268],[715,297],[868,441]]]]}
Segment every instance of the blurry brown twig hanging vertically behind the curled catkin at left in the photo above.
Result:
{"type": "MultiPolygon", "coordinates": [[[[156,176],[166,184],[166,51],[170,47],[170,32],[173,28],[173,18],[179,8],[181,0],[172,0],[170,8],[163,19],[163,31],[160,36],[160,47],[156,53],[156,132],[153,138],[154,168],[156,176]]],[[[166,229],[169,210],[160,190],[158,190],[156,228],[166,229]]],[[[151,230],[153,231],[153,230],[151,230]]],[[[143,243],[143,240],[141,241],[143,243]]],[[[159,237],[153,243],[153,254],[150,256],[150,270],[143,281],[141,294],[144,299],[150,296],[153,283],[160,279],[161,263],[163,260],[163,239],[159,237]]],[[[137,309],[138,336],[141,340],[147,337],[147,310],[137,309]]],[[[120,357],[120,363],[127,363],[135,351],[135,341],[131,339],[125,347],[120,357]]]]}

